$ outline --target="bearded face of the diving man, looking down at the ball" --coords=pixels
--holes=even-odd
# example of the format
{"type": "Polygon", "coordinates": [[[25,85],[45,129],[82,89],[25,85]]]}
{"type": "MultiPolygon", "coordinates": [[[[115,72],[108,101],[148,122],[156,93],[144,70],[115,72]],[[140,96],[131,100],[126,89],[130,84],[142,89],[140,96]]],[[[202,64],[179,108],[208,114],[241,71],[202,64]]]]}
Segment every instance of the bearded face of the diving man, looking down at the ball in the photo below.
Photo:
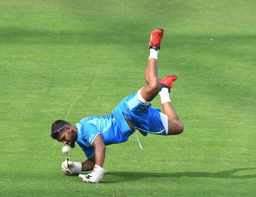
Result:
{"type": "Polygon", "coordinates": [[[74,131],[70,127],[63,129],[57,136],[57,141],[62,142],[63,144],[69,145],[71,148],[74,148],[76,142],[76,136],[74,131]]]}

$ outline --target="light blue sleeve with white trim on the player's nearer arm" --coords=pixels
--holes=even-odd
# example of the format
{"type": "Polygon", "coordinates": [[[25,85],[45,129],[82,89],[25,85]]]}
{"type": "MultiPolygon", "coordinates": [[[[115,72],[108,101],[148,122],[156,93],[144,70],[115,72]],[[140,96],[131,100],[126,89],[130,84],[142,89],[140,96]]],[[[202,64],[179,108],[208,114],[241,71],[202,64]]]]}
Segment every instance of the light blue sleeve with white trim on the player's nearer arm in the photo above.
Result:
{"type": "MultiPolygon", "coordinates": [[[[98,129],[91,123],[83,124],[83,138],[92,145],[94,139],[100,134],[98,129]]],[[[94,150],[93,150],[94,152],[94,150]]],[[[87,155],[86,155],[87,156],[87,155]]]]}

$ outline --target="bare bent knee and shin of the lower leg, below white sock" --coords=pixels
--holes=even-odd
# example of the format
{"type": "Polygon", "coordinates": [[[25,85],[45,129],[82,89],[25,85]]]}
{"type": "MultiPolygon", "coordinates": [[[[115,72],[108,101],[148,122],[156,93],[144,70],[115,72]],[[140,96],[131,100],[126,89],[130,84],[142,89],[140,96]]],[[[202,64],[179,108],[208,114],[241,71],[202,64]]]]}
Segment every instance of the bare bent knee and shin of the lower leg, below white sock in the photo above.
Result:
{"type": "Polygon", "coordinates": [[[180,118],[176,114],[171,102],[165,102],[162,104],[163,113],[168,116],[168,135],[181,134],[184,126],[180,118]]]}

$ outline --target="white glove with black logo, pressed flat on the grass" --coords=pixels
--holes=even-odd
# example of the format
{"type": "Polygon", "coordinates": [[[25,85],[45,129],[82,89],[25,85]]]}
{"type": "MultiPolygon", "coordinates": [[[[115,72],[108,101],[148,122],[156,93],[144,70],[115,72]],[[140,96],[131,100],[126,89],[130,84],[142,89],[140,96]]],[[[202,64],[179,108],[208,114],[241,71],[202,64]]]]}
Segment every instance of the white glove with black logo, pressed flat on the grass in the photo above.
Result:
{"type": "Polygon", "coordinates": [[[99,180],[103,177],[104,173],[106,172],[107,170],[105,170],[104,168],[95,165],[91,173],[89,173],[88,175],[80,174],[79,177],[82,178],[83,182],[86,183],[99,183],[99,180]]]}

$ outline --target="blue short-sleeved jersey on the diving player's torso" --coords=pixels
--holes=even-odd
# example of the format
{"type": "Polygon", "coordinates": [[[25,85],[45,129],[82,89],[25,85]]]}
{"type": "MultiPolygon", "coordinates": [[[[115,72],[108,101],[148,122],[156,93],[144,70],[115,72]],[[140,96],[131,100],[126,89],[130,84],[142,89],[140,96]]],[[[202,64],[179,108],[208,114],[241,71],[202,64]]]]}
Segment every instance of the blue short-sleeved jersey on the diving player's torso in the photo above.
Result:
{"type": "Polygon", "coordinates": [[[126,142],[133,134],[119,107],[116,107],[109,115],[90,116],[82,119],[76,123],[76,129],[78,131],[77,143],[88,158],[94,154],[92,143],[99,134],[106,146],[126,142]]]}

